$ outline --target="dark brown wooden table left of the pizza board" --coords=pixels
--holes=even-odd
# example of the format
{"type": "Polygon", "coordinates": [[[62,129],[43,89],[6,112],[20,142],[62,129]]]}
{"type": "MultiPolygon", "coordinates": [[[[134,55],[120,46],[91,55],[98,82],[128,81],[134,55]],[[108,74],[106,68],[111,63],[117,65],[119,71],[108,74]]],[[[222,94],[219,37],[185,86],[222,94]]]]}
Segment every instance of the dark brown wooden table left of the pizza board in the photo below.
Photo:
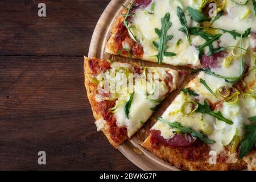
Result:
{"type": "Polygon", "coordinates": [[[96,132],[84,88],[82,56],[109,1],[0,1],[0,169],[138,169],[96,132]]]}

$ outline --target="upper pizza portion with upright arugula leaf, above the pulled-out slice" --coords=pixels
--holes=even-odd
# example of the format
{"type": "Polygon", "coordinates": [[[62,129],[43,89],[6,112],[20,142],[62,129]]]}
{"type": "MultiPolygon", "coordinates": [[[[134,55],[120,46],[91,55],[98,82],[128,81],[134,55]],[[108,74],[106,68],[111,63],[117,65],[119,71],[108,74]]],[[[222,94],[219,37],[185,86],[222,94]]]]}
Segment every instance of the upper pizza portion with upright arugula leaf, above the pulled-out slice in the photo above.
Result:
{"type": "Polygon", "coordinates": [[[207,68],[219,57],[230,57],[241,36],[255,50],[256,17],[241,9],[253,12],[253,2],[132,0],[115,21],[105,52],[207,68]],[[212,2],[218,4],[218,14],[209,17],[216,13],[208,8],[212,2]]]}

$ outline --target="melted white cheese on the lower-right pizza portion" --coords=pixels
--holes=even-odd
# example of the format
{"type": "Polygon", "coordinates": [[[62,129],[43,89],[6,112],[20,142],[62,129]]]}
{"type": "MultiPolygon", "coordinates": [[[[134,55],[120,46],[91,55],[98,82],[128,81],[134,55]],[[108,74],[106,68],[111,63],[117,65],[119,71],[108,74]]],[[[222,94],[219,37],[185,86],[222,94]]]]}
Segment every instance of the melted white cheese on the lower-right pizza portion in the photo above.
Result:
{"type": "MultiPolygon", "coordinates": [[[[195,93],[200,94],[200,96],[196,96],[196,98],[201,104],[203,104],[204,100],[210,100],[213,103],[217,103],[219,101],[223,101],[224,98],[218,94],[217,97],[214,97],[209,90],[199,82],[200,78],[203,78],[210,89],[212,89],[216,94],[218,88],[221,86],[232,86],[222,78],[210,76],[204,72],[199,73],[197,78],[189,82],[187,87],[195,90],[195,93]]],[[[218,121],[216,118],[208,114],[193,113],[192,115],[183,117],[180,112],[181,106],[188,100],[195,100],[195,97],[181,92],[164,112],[162,115],[163,119],[168,122],[179,122],[182,126],[191,127],[192,130],[197,132],[204,133],[204,130],[207,130],[207,137],[216,141],[216,143],[209,144],[209,146],[212,150],[216,151],[217,154],[220,154],[225,150],[225,145],[231,142],[234,135],[238,135],[240,137],[244,135],[243,126],[246,123],[250,123],[247,117],[256,114],[256,100],[245,101],[245,99],[241,97],[236,104],[228,104],[224,102],[223,106],[220,108],[222,115],[233,121],[233,125],[229,125],[223,121],[218,121]],[[201,125],[202,120],[207,122],[207,126],[209,127],[208,129],[203,128],[201,125]]],[[[152,129],[161,131],[161,135],[165,139],[169,139],[174,135],[173,129],[160,121],[156,122],[156,126],[153,126],[152,129]]]]}

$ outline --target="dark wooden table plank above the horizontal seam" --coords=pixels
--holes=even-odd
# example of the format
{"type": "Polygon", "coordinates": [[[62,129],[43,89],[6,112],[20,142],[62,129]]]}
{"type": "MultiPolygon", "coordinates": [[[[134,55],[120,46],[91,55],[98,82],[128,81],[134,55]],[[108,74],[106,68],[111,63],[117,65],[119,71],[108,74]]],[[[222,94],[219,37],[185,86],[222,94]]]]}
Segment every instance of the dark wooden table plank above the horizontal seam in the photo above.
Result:
{"type": "Polygon", "coordinates": [[[110,0],[1,0],[0,55],[88,53],[90,39],[110,0]],[[46,3],[46,17],[38,4],[46,3]]]}

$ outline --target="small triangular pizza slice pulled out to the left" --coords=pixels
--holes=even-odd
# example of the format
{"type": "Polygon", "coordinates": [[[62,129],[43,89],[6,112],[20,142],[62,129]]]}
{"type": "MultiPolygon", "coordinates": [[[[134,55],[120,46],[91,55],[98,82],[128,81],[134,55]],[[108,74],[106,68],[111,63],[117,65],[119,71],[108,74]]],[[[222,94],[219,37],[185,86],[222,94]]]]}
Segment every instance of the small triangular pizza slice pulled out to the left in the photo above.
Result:
{"type": "Polygon", "coordinates": [[[118,147],[141,129],[187,71],[85,57],[84,73],[97,129],[118,147]]]}

